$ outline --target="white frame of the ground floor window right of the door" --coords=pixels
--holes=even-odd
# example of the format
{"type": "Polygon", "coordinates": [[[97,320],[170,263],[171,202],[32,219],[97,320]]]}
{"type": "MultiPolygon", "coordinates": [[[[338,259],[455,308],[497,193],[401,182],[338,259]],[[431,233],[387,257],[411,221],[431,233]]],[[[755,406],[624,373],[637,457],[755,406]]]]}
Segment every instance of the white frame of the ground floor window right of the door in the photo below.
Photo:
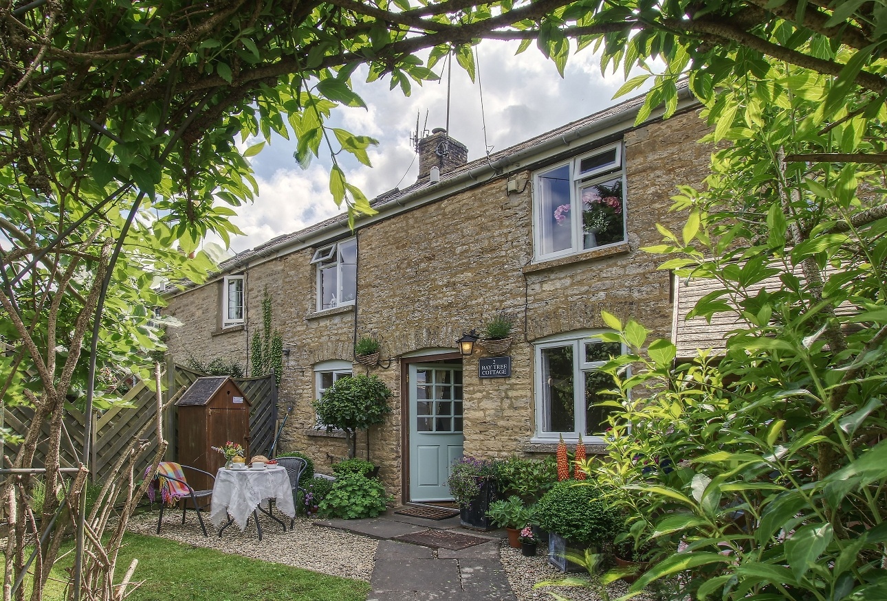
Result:
{"type": "MultiPolygon", "coordinates": [[[[538,341],[534,345],[533,349],[533,357],[534,357],[534,402],[536,405],[536,431],[534,433],[533,438],[530,442],[539,442],[539,443],[551,443],[557,442],[560,440],[561,435],[563,436],[564,441],[576,442],[579,439],[579,433],[582,433],[583,441],[589,442],[591,444],[604,444],[605,441],[600,436],[590,436],[585,434],[585,376],[584,373],[586,371],[594,371],[596,368],[603,365],[604,361],[597,362],[585,362],[583,359],[585,358],[585,344],[586,343],[600,343],[603,340],[600,340],[600,334],[610,332],[608,330],[589,330],[583,332],[569,332],[564,334],[557,334],[555,336],[549,336],[543,340],[538,341]],[[556,347],[573,347],[573,411],[575,418],[575,426],[576,429],[573,432],[545,432],[542,430],[543,425],[545,424],[545,382],[542,377],[542,350],[545,348],[556,348],[556,347]],[[582,382],[579,382],[579,377],[582,376],[582,382]]],[[[627,349],[624,345],[622,345],[622,352],[627,352],[627,349]]]]}

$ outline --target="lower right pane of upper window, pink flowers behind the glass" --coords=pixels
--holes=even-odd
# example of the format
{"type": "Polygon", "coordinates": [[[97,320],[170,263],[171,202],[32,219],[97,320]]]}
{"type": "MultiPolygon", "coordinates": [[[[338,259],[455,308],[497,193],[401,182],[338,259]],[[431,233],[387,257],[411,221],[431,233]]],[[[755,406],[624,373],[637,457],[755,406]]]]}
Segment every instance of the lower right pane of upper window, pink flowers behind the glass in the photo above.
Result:
{"type": "Polygon", "coordinates": [[[582,201],[582,247],[593,248],[625,239],[622,177],[579,189],[582,201]]]}

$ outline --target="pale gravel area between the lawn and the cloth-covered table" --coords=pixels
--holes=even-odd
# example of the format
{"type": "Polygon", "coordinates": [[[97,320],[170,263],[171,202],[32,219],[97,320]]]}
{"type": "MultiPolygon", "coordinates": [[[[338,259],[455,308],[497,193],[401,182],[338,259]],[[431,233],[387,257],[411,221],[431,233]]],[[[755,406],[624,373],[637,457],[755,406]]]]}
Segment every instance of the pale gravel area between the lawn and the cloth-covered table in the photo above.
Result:
{"type": "MultiPolygon", "coordinates": [[[[159,511],[151,511],[133,516],[130,519],[130,532],[156,535],[158,514],[159,511]]],[[[373,574],[376,541],[365,536],[314,526],[310,519],[296,519],[294,529],[287,530],[284,534],[278,523],[263,515],[262,542],[259,542],[256,535],[253,520],[250,520],[243,533],[237,524],[232,524],[225,528],[220,538],[213,531],[207,514],[204,514],[203,519],[209,531],[208,537],[204,537],[200,531],[200,524],[193,511],[188,511],[184,526],[182,511],[165,511],[161,536],[184,544],[274,561],[334,576],[370,581],[370,576],[373,574]]]]}

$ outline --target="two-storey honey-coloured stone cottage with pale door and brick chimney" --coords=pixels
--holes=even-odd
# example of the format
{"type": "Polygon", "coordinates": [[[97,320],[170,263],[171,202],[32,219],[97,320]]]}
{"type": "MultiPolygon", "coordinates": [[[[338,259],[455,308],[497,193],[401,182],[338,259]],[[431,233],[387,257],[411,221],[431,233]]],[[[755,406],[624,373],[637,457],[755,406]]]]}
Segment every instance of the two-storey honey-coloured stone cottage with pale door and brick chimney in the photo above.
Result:
{"type": "Polygon", "coordinates": [[[661,239],[657,222],[679,226],[675,186],[698,185],[709,164],[698,105],[685,95],[670,119],[635,126],[642,102],[471,162],[434,130],[418,144],[418,181],[374,199],[378,215],[354,230],[344,215],[320,222],[169,293],[164,312],[184,324],[169,328],[169,353],[246,365],[267,289],[286,349],[279,404],[294,406],[280,448],[307,452],[318,472],[347,457],[311,402],[336,379],[376,374],[394,410],[358,434],[357,455],[381,466],[398,503],[449,498],[463,453],[531,457],[580,433],[593,451],[605,417],[596,391],[608,386],[596,367],[620,350],[598,338],[600,311],[671,335],[671,276],[640,248],[661,239]],[[490,370],[483,347],[462,355],[457,340],[498,314],[514,319],[514,343],[510,365],[490,370]],[[363,336],[381,342],[374,368],[355,363],[363,336]]]}

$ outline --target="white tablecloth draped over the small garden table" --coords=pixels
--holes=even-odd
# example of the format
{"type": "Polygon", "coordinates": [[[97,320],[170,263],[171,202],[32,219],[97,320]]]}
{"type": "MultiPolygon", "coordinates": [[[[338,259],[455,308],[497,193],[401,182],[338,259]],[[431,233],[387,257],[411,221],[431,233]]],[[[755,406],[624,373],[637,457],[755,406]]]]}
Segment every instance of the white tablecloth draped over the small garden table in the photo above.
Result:
{"type": "Polygon", "coordinates": [[[293,488],[284,468],[278,465],[264,470],[220,468],[216,472],[209,519],[217,528],[231,515],[242,531],[247,527],[249,514],[271,498],[277,498],[275,505],[280,511],[290,518],[295,516],[293,488]]]}

